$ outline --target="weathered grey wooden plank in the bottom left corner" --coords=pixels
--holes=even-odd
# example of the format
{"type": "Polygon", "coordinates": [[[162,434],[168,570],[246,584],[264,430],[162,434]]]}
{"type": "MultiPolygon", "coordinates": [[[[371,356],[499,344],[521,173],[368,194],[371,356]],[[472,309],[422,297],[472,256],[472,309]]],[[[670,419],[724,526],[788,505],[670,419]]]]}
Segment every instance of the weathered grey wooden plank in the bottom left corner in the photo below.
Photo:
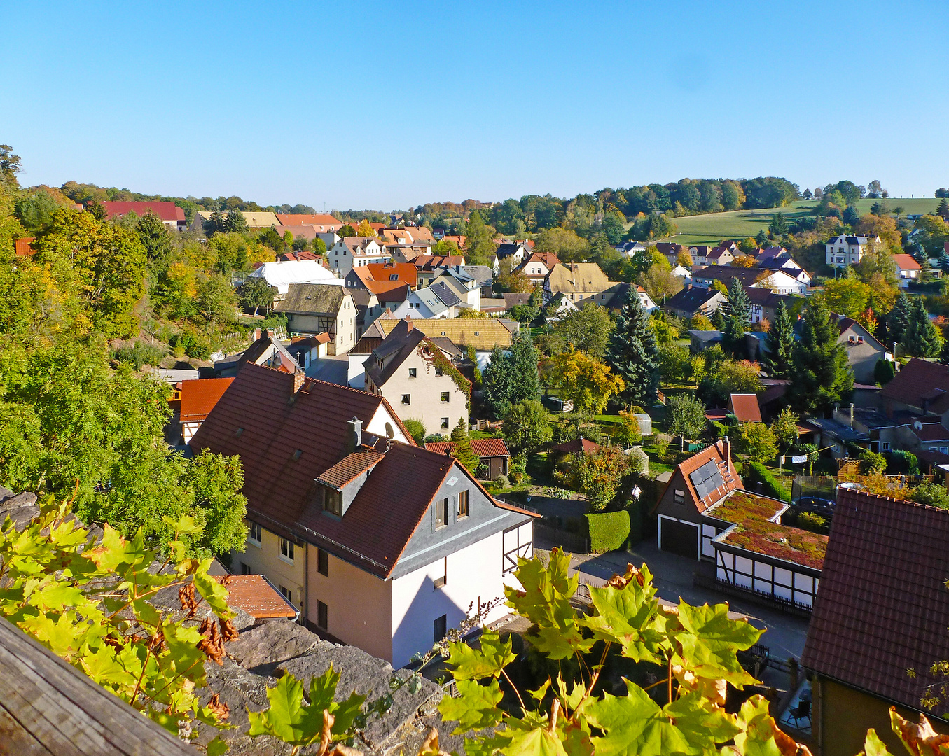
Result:
{"type": "Polygon", "coordinates": [[[0,727],[8,726],[0,753],[17,756],[194,756],[191,747],[0,618],[0,727]],[[7,740],[23,747],[8,750],[7,740]]]}

